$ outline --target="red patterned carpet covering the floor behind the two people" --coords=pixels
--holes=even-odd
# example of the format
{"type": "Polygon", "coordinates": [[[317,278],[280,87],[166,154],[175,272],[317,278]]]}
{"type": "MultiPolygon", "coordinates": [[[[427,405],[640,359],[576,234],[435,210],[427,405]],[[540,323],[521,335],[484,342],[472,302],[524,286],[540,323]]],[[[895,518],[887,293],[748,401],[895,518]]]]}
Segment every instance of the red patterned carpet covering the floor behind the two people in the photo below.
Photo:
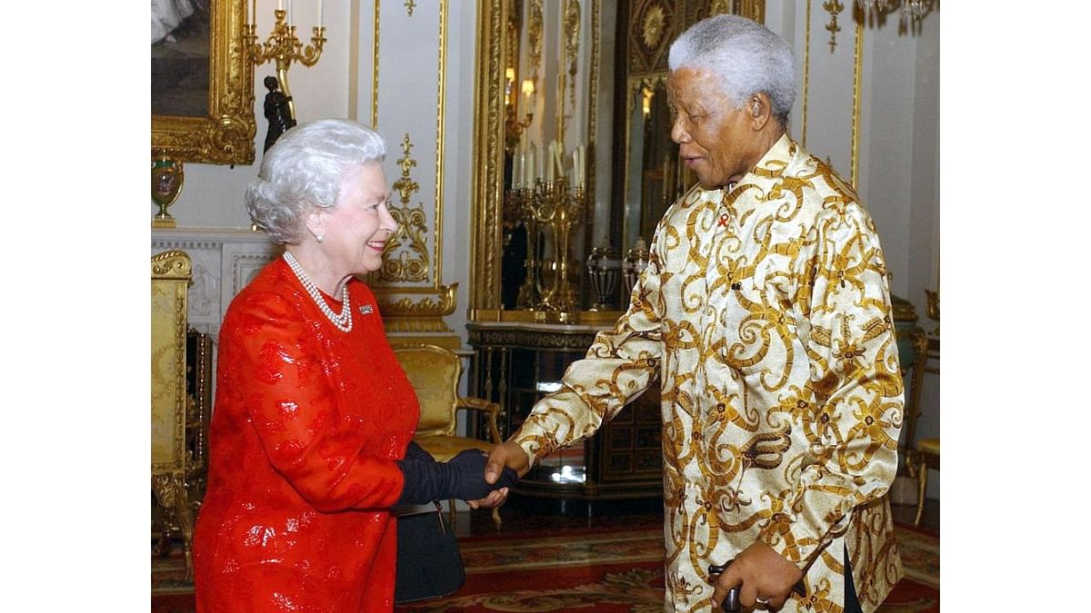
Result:
{"type": "MultiPolygon", "coordinates": [[[[939,540],[901,526],[896,531],[906,578],[879,611],[938,612],[939,540]]],[[[662,611],[659,528],[471,537],[460,544],[466,585],[454,596],[395,611],[662,611]]],[[[153,568],[152,613],[192,613],[192,587],[180,579],[177,564],[164,568],[153,568]]]]}

